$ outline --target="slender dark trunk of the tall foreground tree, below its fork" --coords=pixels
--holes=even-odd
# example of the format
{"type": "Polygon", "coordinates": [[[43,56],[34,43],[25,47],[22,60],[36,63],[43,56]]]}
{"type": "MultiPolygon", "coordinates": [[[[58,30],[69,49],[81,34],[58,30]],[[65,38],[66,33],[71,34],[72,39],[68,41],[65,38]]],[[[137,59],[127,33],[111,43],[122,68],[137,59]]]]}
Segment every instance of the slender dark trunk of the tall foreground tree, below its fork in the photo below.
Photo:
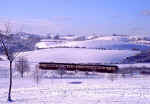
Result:
{"type": "Polygon", "coordinates": [[[9,61],[10,69],[9,69],[9,92],[8,92],[8,101],[12,101],[11,99],[11,87],[12,87],[12,61],[9,61]]]}

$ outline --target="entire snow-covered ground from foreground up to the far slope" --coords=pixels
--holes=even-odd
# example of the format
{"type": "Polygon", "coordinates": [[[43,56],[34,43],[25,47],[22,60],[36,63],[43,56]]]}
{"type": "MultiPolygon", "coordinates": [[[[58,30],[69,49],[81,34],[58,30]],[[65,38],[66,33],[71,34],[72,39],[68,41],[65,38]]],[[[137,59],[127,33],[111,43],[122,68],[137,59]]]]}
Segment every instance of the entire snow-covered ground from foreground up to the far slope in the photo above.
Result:
{"type": "MultiPolygon", "coordinates": [[[[28,59],[31,72],[25,73],[22,79],[13,71],[13,102],[7,102],[9,64],[1,56],[0,104],[149,104],[149,75],[69,72],[60,78],[56,71],[40,71],[41,78],[38,83],[34,78],[35,66],[39,62],[101,63],[117,65],[119,68],[150,67],[149,63],[123,64],[127,57],[149,49],[147,44],[128,39],[110,36],[85,41],[65,40],[59,44],[56,41],[53,45],[51,41],[54,40],[50,40],[48,46],[43,47],[47,49],[19,54],[18,57],[24,56],[28,59]]],[[[43,45],[39,45],[38,43],[36,47],[42,48],[43,45]]]]}

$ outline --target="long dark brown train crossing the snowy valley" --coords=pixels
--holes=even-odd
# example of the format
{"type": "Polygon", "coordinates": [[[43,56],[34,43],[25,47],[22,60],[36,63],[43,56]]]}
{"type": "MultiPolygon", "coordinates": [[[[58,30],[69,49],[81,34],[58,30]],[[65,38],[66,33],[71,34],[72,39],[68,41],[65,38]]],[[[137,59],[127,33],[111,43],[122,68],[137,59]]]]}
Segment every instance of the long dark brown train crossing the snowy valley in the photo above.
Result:
{"type": "Polygon", "coordinates": [[[83,63],[54,63],[54,62],[40,62],[39,69],[41,70],[57,70],[63,68],[67,71],[95,71],[115,73],[118,71],[116,65],[101,65],[101,64],[83,64],[83,63]]]}

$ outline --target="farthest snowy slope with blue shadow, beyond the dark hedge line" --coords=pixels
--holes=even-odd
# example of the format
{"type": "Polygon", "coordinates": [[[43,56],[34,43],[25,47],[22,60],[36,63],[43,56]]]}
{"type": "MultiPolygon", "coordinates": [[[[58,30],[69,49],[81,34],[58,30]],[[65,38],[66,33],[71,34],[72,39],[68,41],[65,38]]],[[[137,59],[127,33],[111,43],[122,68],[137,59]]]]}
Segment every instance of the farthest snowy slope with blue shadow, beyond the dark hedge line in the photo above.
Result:
{"type": "Polygon", "coordinates": [[[38,48],[50,48],[50,47],[79,47],[79,48],[94,48],[94,49],[109,49],[109,50],[146,50],[150,49],[150,46],[143,44],[132,43],[129,37],[123,36],[102,36],[96,39],[85,41],[66,41],[63,43],[41,43],[37,44],[38,48]]]}

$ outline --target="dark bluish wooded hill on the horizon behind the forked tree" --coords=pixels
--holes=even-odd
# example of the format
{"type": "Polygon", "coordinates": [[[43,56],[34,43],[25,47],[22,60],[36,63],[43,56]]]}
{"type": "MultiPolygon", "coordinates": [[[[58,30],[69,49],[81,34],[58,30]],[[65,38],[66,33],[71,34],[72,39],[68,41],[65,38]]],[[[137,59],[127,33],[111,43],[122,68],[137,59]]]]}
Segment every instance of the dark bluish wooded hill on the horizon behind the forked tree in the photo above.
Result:
{"type": "MultiPolygon", "coordinates": [[[[28,33],[9,34],[9,36],[1,34],[0,37],[3,37],[11,52],[34,50],[35,44],[40,41],[38,35],[28,33]]],[[[0,54],[3,54],[3,52],[3,47],[0,44],[0,54]]]]}

